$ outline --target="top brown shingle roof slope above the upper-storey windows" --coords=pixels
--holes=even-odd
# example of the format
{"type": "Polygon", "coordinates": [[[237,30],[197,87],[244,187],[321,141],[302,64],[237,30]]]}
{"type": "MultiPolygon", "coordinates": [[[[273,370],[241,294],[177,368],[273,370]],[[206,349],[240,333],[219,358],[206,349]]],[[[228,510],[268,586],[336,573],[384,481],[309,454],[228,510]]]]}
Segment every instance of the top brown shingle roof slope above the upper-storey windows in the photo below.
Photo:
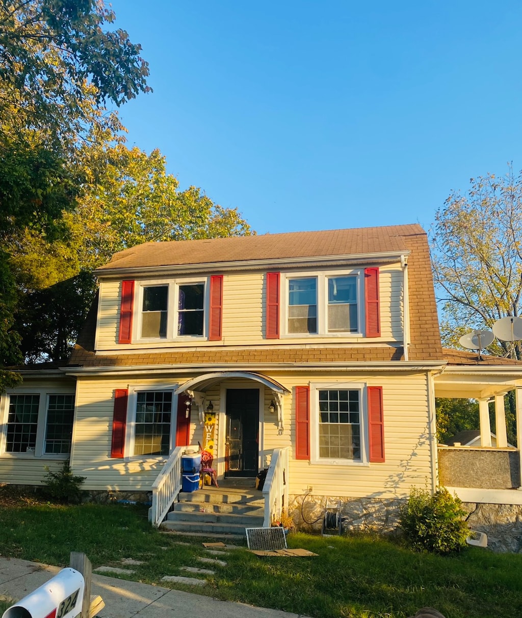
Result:
{"type": "Polygon", "coordinates": [[[405,237],[424,234],[418,224],[320,232],[289,232],[204,240],[146,242],[115,253],[97,272],[114,268],[146,268],[229,261],[282,260],[316,256],[403,251],[405,237]]]}

